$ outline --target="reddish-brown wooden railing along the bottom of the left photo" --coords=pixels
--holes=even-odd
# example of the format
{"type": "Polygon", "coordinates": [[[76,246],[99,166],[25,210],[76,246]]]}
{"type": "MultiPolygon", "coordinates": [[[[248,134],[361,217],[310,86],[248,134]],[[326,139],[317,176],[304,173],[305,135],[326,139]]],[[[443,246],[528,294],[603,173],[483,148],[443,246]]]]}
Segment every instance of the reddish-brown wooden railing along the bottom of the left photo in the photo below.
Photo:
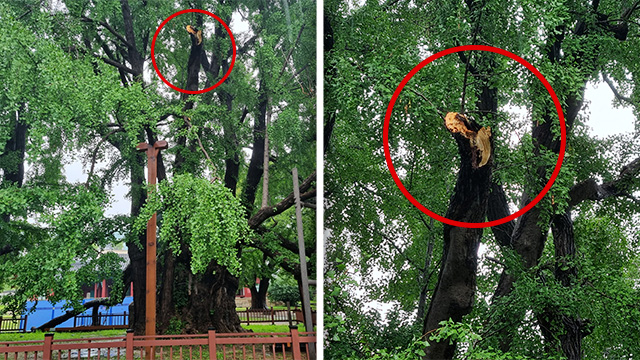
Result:
{"type": "Polygon", "coordinates": [[[313,332],[218,334],[210,330],[201,335],[126,336],[43,341],[0,342],[0,358],[11,360],[59,359],[228,359],[228,360],[314,360],[309,345],[316,342],[313,332]]]}

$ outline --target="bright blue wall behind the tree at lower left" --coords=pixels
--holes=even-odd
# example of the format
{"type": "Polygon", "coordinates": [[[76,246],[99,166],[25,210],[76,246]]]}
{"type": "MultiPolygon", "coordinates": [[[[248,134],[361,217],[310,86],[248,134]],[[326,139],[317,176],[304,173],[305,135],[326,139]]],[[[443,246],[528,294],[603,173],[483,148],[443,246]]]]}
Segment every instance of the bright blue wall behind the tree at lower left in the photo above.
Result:
{"type": "MultiPolygon", "coordinates": [[[[84,304],[91,300],[94,300],[94,299],[84,299],[82,300],[82,303],[84,304]]],[[[110,308],[107,308],[105,306],[100,306],[98,308],[98,312],[102,314],[123,314],[126,311],[128,313],[129,304],[131,302],[133,302],[133,296],[127,296],[124,298],[124,301],[122,302],[122,304],[118,304],[110,308]]],[[[27,310],[31,309],[34,303],[35,301],[27,302],[27,310]]],[[[39,300],[36,305],[36,310],[30,314],[26,314],[27,315],[27,331],[30,331],[32,327],[38,327],[46,323],[47,321],[64,314],[66,312],[65,310],[63,310],[65,303],[66,301],[60,301],[56,303],[54,306],[49,301],[39,300]]],[[[83,315],[90,315],[92,311],[93,309],[88,309],[83,313],[83,315]]],[[[128,324],[128,319],[127,319],[127,324],[128,324]]],[[[73,327],[73,318],[63,322],[62,324],[56,327],[73,327]]]]}

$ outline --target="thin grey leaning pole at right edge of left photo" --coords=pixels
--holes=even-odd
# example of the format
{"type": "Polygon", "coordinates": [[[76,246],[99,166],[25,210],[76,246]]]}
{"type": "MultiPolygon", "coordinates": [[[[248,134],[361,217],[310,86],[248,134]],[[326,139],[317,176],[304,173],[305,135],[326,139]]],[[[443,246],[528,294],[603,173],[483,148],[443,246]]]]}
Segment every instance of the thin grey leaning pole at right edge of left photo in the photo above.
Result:
{"type": "MultiPolygon", "coordinates": [[[[298,169],[291,170],[293,175],[293,195],[296,200],[296,227],[298,229],[298,254],[300,255],[300,281],[302,282],[302,309],[304,311],[304,327],[306,331],[313,331],[313,318],[311,317],[311,299],[309,296],[309,277],[307,275],[307,255],[304,248],[304,235],[302,233],[302,206],[300,205],[300,187],[298,186],[298,169]]],[[[297,330],[296,330],[297,331],[297,330]]],[[[309,343],[309,357],[316,358],[315,344],[309,343]]]]}

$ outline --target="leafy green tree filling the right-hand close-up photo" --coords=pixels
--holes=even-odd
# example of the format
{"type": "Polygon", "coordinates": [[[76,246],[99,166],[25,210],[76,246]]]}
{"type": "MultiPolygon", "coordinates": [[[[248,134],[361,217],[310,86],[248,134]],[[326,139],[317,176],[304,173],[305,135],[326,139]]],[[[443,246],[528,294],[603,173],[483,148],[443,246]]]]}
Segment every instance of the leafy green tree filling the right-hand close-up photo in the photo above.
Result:
{"type": "MultiPolygon", "coordinates": [[[[591,119],[584,99],[586,85],[602,79],[614,90],[616,105],[630,107],[637,118],[633,74],[638,5],[326,4],[325,151],[331,237],[325,272],[333,274],[327,279],[328,289],[345,278],[356,284],[346,293],[326,292],[329,356],[368,358],[375,353],[372,349],[380,349],[375,339],[389,335],[349,330],[351,322],[378,321],[357,309],[374,300],[408,312],[403,318],[407,332],[430,342],[425,358],[575,359],[638,352],[637,346],[627,344],[627,335],[602,337],[599,332],[608,325],[597,309],[637,299],[631,285],[637,277],[596,270],[609,265],[587,260],[598,255],[592,252],[593,237],[586,235],[585,226],[619,219],[613,226],[621,229],[617,238],[626,244],[622,261],[627,269],[637,268],[639,144],[631,134],[589,134],[591,119]],[[517,222],[469,232],[464,241],[464,230],[430,222],[404,199],[388,175],[381,142],[382,115],[400,80],[428,55],[463,44],[504,48],[536,66],[560,98],[568,131],[565,162],[548,195],[517,222]],[[464,255],[456,263],[452,254],[464,255]],[[617,284],[617,290],[611,284],[617,284]],[[625,295],[611,296],[610,291],[625,295]],[[366,294],[361,302],[348,301],[358,292],[366,294]],[[587,298],[591,302],[578,301],[587,298]],[[441,323],[450,318],[453,323],[441,323]],[[350,345],[338,345],[336,337],[350,345]],[[456,341],[462,344],[458,348],[456,341]]],[[[394,166],[412,195],[432,211],[455,217],[456,206],[473,206],[476,200],[460,200],[462,188],[457,187],[467,178],[468,159],[464,152],[458,155],[456,142],[441,125],[444,113],[460,112],[461,98],[466,100],[463,112],[478,126],[489,126],[494,143],[487,165],[488,192],[480,196],[472,215],[485,221],[502,218],[542,189],[559,150],[557,115],[549,95],[515,62],[464,52],[441,58],[416,74],[391,119],[394,166]]],[[[465,215],[460,216],[456,220],[464,221],[465,215]]],[[[609,313],[619,324],[634,328],[631,314],[637,315],[635,310],[609,313]]],[[[408,349],[411,337],[405,339],[408,349]]]]}

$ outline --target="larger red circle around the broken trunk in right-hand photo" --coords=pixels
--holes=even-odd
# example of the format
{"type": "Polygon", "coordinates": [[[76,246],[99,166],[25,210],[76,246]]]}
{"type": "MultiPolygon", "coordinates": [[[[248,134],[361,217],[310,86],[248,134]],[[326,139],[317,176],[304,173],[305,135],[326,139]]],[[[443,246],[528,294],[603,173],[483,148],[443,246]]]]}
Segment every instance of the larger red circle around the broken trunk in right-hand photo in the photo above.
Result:
{"type": "Polygon", "coordinates": [[[485,227],[492,227],[492,226],[504,224],[519,216],[522,216],[524,213],[531,210],[538,202],[540,202],[540,200],[542,200],[542,198],[547,194],[549,189],[551,189],[551,186],[553,185],[556,178],[558,177],[558,173],[560,173],[560,167],[562,166],[562,160],[564,159],[565,146],[567,143],[567,134],[566,134],[565,123],[564,123],[564,114],[562,113],[562,107],[560,106],[560,100],[558,100],[558,97],[556,96],[556,93],[553,91],[553,88],[551,87],[547,79],[545,79],[545,77],[540,73],[540,71],[538,71],[538,69],[533,67],[533,65],[531,65],[530,63],[528,63],[526,60],[522,59],[518,55],[500,48],[496,48],[493,46],[486,46],[486,45],[464,45],[464,46],[452,47],[429,56],[428,58],[420,62],[420,64],[418,64],[415,68],[413,68],[413,70],[411,70],[409,74],[407,74],[407,76],[404,77],[404,79],[402,79],[402,81],[400,82],[400,85],[398,85],[395,92],[393,93],[393,96],[391,97],[391,101],[389,102],[389,106],[387,107],[387,112],[384,118],[382,142],[384,144],[384,156],[387,160],[387,166],[389,167],[389,171],[391,172],[391,176],[393,177],[393,180],[396,182],[396,185],[398,186],[400,191],[402,191],[404,196],[415,207],[417,207],[418,209],[420,209],[420,211],[429,215],[430,217],[438,221],[441,221],[445,224],[458,226],[458,227],[466,227],[466,228],[485,228],[485,227]],[[413,77],[413,75],[415,75],[420,69],[422,69],[432,61],[437,60],[445,55],[453,54],[460,51],[469,51],[469,50],[489,51],[496,54],[504,55],[509,57],[510,59],[513,59],[519,62],[524,67],[529,69],[529,71],[531,71],[538,77],[540,82],[542,82],[544,87],[549,92],[549,95],[551,95],[551,99],[553,99],[553,103],[556,107],[556,111],[558,112],[558,118],[560,119],[560,153],[558,154],[558,162],[556,163],[556,167],[553,170],[553,173],[551,174],[551,177],[549,178],[547,185],[545,185],[545,187],[542,189],[540,194],[538,194],[538,196],[536,196],[535,199],[533,199],[533,201],[531,201],[529,204],[527,204],[525,207],[518,210],[517,212],[507,217],[504,217],[502,219],[487,221],[487,222],[480,222],[480,223],[470,223],[470,222],[447,219],[446,217],[440,216],[434,213],[433,211],[427,209],[426,207],[424,207],[420,202],[418,202],[418,200],[416,200],[413,196],[411,196],[409,191],[404,187],[404,185],[402,185],[402,181],[400,181],[400,178],[398,177],[398,174],[396,173],[396,170],[393,167],[393,162],[391,160],[391,152],[389,150],[389,120],[391,119],[393,106],[396,100],[398,99],[398,97],[400,96],[400,92],[402,92],[402,89],[407,84],[407,82],[409,82],[409,80],[413,77]]]}

